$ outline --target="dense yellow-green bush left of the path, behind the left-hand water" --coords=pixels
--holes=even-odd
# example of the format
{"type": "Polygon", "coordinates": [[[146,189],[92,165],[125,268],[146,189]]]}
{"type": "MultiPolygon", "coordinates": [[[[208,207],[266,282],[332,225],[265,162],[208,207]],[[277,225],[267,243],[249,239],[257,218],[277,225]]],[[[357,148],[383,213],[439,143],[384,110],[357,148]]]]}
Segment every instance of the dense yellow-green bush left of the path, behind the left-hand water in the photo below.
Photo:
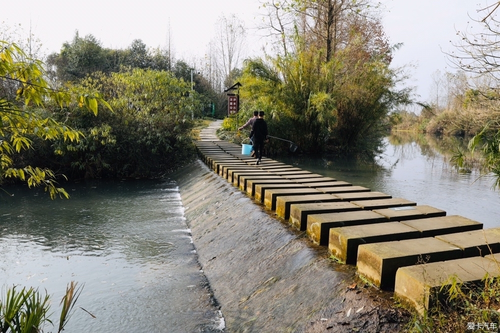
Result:
{"type": "Polygon", "coordinates": [[[191,118],[200,115],[200,100],[188,82],[171,72],[94,73],[81,89],[100,90],[113,112],[58,114],[85,136],[76,144],[56,144],[57,167],[70,169],[73,177],[158,176],[191,151],[191,118]]]}

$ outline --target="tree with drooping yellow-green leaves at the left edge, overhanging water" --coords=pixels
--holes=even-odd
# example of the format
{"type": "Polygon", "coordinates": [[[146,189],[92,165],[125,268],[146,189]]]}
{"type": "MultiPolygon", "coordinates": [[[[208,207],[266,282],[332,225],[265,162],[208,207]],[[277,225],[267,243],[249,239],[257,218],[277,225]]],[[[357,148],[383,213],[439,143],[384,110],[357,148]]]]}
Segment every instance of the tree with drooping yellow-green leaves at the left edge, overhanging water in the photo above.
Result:
{"type": "Polygon", "coordinates": [[[32,147],[33,139],[77,142],[81,132],[46,115],[46,105],[62,108],[77,104],[97,114],[98,102],[109,106],[97,93],[54,90],[44,79],[43,63],[30,59],[16,44],[0,41],[0,186],[16,178],[28,186],[44,186],[50,197],[68,196],[56,187],[55,173],[24,165],[19,153],[32,147]]]}

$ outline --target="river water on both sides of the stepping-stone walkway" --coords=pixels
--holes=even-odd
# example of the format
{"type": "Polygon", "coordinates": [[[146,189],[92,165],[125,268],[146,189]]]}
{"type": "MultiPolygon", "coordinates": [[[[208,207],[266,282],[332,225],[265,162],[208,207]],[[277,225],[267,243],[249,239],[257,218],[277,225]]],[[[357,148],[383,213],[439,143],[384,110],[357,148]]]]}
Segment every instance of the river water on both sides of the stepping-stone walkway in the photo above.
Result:
{"type": "MultiPolygon", "coordinates": [[[[339,180],[500,226],[500,199],[480,167],[459,169],[460,138],[397,133],[375,159],[277,159],[339,180]]],[[[69,200],[39,189],[0,191],[0,283],[38,287],[52,310],[71,281],[84,283],[68,332],[220,331],[223,317],[196,260],[170,180],[65,184],[69,200]],[[95,315],[92,318],[86,311],[95,315]]],[[[45,331],[54,331],[45,327],[45,331]]]]}

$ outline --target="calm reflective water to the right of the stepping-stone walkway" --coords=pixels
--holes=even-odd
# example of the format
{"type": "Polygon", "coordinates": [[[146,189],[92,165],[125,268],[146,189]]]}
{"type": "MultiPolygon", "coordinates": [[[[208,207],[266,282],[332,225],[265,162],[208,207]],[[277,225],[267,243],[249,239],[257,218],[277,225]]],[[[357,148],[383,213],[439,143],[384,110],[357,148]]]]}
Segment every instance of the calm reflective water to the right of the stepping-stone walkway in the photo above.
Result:
{"type": "Polygon", "coordinates": [[[468,139],[394,132],[384,143],[383,151],[376,156],[303,155],[277,159],[393,197],[428,204],[448,215],[462,215],[485,227],[500,226],[499,195],[491,188],[491,176],[479,177],[480,158],[471,158],[465,169],[449,162],[458,148],[470,155],[468,139]]]}

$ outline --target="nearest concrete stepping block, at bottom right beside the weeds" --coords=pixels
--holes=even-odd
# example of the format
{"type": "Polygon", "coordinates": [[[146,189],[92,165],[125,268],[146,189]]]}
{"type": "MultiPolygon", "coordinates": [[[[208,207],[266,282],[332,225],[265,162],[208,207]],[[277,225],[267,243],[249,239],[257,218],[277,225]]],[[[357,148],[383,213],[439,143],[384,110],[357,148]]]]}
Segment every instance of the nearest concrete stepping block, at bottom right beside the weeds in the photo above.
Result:
{"type": "Polygon", "coordinates": [[[500,276],[498,265],[482,257],[462,258],[401,267],[396,272],[394,298],[423,315],[445,299],[452,279],[466,285],[478,283],[488,274],[500,276]]]}

